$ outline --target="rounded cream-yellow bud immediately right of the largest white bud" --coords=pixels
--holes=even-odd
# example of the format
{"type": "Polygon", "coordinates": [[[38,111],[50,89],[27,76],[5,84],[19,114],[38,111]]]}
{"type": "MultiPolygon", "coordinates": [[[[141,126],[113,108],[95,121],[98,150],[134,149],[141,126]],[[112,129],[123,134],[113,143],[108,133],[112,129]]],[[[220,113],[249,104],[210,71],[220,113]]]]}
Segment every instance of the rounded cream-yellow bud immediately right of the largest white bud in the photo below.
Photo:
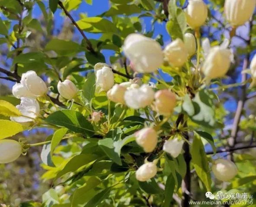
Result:
{"type": "Polygon", "coordinates": [[[174,67],[182,66],[189,56],[185,44],[179,38],[165,47],[164,54],[166,60],[174,67]]]}

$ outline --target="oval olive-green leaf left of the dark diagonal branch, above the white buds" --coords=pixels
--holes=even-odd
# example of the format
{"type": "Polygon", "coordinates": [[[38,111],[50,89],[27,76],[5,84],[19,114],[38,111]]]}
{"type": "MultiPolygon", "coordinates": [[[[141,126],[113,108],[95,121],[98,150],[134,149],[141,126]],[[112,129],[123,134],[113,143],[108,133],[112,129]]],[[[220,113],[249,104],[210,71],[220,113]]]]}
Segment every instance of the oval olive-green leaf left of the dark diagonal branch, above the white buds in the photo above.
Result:
{"type": "Polygon", "coordinates": [[[80,45],[73,41],[52,39],[46,44],[45,50],[54,50],[58,55],[68,56],[78,53],[80,45]]]}

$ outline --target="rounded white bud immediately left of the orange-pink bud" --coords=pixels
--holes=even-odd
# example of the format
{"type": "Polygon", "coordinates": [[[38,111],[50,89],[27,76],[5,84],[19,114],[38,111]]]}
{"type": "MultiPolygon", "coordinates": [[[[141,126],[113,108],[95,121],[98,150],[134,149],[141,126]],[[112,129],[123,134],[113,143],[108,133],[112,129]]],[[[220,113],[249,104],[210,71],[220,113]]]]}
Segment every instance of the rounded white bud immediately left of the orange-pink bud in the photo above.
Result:
{"type": "Polygon", "coordinates": [[[154,100],[154,91],[149,85],[131,88],[125,91],[125,103],[128,107],[139,109],[149,106],[154,100]]]}

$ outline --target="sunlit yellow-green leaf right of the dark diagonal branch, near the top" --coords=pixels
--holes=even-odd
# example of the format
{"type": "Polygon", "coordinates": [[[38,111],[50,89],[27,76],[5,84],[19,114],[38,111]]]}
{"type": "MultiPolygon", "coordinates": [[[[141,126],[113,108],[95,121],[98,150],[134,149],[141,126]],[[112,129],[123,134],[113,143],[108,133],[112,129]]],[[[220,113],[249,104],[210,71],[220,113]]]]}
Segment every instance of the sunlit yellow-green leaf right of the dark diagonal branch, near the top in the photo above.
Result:
{"type": "Polygon", "coordinates": [[[93,33],[118,33],[118,29],[112,22],[101,17],[86,17],[77,21],[77,25],[81,29],[93,33]]]}

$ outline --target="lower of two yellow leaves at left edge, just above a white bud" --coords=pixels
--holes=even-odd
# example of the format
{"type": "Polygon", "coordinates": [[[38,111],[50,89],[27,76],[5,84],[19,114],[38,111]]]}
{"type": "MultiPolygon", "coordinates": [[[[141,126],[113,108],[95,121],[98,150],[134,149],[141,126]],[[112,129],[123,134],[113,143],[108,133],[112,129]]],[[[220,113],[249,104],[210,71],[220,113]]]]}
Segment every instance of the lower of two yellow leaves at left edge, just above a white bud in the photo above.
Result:
{"type": "Polygon", "coordinates": [[[0,139],[11,137],[23,131],[21,124],[10,120],[0,119],[0,139]]]}

